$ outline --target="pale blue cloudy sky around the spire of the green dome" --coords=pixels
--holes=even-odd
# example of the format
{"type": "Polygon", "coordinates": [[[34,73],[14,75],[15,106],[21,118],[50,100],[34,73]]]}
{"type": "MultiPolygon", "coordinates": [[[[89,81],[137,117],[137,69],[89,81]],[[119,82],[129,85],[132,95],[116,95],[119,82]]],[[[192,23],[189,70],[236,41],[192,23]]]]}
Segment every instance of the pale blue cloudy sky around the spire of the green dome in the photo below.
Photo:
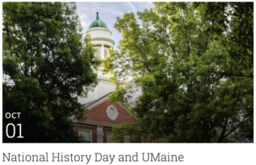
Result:
{"type": "Polygon", "coordinates": [[[99,19],[106,23],[107,28],[112,32],[116,47],[122,39],[122,35],[114,28],[116,18],[123,18],[124,13],[136,13],[153,6],[152,2],[77,2],[77,13],[81,20],[82,32],[85,33],[90,23],[96,19],[98,11],[99,19]]]}

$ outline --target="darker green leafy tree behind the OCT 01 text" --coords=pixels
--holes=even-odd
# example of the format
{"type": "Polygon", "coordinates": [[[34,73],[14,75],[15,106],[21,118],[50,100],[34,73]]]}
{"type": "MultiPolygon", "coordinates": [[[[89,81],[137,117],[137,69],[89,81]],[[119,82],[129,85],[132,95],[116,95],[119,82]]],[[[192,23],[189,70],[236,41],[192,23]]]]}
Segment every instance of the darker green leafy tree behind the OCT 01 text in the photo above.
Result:
{"type": "Polygon", "coordinates": [[[90,37],[82,43],[75,3],[4,2],[2,11],[3,142],[78,142],[69,117],[82,119],[76,96],[97,84],[99,60],[90,37]],[[24,138],[18,126],[8,138],[9,123],[24,138]]]}

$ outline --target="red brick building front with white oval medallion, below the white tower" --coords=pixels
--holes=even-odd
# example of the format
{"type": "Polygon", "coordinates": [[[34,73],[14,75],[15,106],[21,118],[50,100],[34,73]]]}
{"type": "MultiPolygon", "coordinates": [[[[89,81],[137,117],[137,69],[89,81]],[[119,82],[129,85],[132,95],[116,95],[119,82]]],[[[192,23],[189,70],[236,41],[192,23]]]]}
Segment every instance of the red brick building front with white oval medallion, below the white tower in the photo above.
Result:
{"type": "MultiPolygon", "coordinates": [[[[109,103],[107,100],[106,94],[86,103],[86,121],[73,120],[77,135],[84,137],[86,142],[112,142],[112,126],[136,122],[136,117],[130,115],[123,105],[119,102],[109,103]]],[[[124,136],[124,142],[131,142],[131,138],[128,135],[124,136]]]]}

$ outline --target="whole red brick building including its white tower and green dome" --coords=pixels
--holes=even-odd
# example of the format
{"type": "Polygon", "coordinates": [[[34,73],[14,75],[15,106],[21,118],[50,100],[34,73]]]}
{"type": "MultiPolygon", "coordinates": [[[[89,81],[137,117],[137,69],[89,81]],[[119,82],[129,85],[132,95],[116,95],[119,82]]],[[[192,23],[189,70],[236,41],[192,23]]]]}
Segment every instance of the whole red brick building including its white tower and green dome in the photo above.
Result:
{"type": "MultiPolygon", "coordinates": [[[[91,42],[97,50],[96,56],[101,59],[105,59],[108,56],[108,49],[115,45],[115,41],[111,39],[111,31],[107,29],[106,23],[99,19],[98,12],[94,22],[90,23],[86,35],[90,35],[91,42]]],[[[88,112],[84,114],[86,121],[79,122],[73,118],[73,122],[77,135],[81,136],[84,142],[113,142],[112,126],[136,122],[136,117],[129,114],[119,102],[107,102],[107,95],[115,90],[115,85],[109,81],[110,76],[103,75],[99,68],[99,85],[88,93],[88,97],[78,97],[78,101],[88,112]]],[[[124,142],[131,142],[131,138],[128,135],[124,136],[124,142]]]]}

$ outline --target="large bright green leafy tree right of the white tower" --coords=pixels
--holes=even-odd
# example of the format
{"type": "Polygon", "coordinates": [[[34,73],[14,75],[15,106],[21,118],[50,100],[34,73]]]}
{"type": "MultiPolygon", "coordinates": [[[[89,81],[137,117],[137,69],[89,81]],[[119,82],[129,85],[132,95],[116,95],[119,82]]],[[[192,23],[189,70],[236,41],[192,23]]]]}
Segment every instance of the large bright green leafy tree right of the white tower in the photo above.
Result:
{"type": "Polygon", "coordinates": [[[123,39],[104,72],[114,75],[111,101],[123,102],[138,122],[115,126],[113,137],[253,142],[253,3],[154,4],[137,13],[141,25],[133,13],[115,23],[123,39]]]}

